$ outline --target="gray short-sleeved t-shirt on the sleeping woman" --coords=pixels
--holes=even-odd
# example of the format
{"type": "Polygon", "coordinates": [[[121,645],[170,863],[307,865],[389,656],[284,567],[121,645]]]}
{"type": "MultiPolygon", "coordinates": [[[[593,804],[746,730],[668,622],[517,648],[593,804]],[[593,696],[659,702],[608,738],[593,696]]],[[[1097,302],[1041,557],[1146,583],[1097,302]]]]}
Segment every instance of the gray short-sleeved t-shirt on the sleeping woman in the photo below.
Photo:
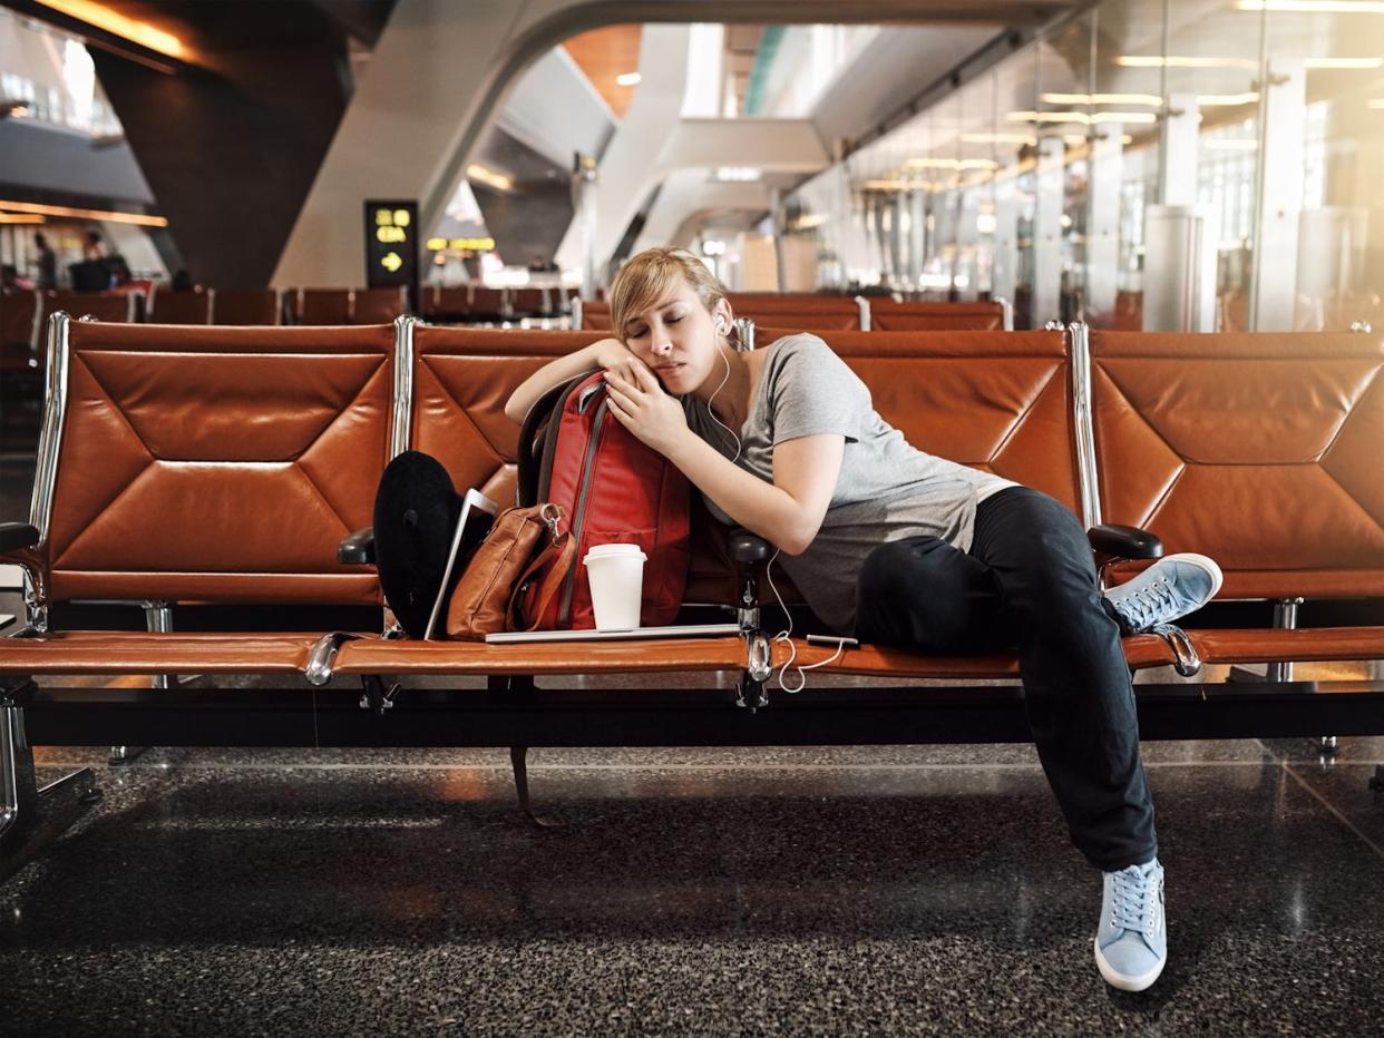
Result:
{"type": "MultiPolygon", "coordinates": [[[[818,433],[846,437],[841,475],[821,530],[801,555],[779,555],[778,562],[823,623],[851,634],[855,579],[866,555],[916,536],[967,551],[976,505],[1019,484],[909,444],[875,411],[859,376],[815,335],[787,335],[765,353],[750,415],[739,430],[736,464],[772,483],[774,444],[818,433]]],[[[692,432],[735,457],[735,441],[704,403],[688,393],[682,408],[692,432]]],[[[734,523],[716,502],[706,502],[717,519],[734,523]]]]}

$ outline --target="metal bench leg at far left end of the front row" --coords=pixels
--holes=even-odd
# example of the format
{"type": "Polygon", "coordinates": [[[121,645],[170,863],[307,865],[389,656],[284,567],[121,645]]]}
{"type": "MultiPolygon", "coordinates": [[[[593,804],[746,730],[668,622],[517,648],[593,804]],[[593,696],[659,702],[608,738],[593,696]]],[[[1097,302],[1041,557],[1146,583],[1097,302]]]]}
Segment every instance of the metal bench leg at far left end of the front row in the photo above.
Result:
{"type": "Polygon", "coordinates": [[[0,703],[0,879],[12,875],[76,821],[73,804],[101,799],[95,772],[82,768],[39,789],[24,710],[0,703]]]}

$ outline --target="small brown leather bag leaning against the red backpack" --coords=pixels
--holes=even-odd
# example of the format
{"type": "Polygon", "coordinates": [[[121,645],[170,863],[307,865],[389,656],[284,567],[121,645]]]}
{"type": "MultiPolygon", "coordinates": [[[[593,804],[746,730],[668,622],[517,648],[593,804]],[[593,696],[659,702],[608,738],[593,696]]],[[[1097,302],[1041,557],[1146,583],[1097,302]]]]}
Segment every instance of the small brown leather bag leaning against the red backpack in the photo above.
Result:
{"type": "Polygon", "coordinates": [[[561,520],[555,504],[508,508],[495,518],[447,601],[448,638],[484,641],[537,628],[577,554],[572,534],[558,533],[561,520]]]}

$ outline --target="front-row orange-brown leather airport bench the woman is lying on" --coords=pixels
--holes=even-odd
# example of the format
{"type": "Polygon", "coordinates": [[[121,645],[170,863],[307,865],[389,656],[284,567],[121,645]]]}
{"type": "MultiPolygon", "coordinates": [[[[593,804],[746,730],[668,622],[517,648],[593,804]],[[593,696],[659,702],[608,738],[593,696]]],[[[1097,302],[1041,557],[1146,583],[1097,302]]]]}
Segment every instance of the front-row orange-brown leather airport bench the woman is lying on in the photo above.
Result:
{"type": "MultiPolygon", "coordinates": [[[[381,606],[371,567],[339,565],[336,552],[343,537],[370,525],[386,459],[407,447],[429,451],[457,486],[508,501],[518,459],[505,400],[538,365],[598,336],[435,328],[414,318],[393,327],[190,328],[55,317],[30,522],[0,526],[0,561],[29,574],[28,630],[0,639],[0,752],[15,765],[0,768],[0,778],[21,776],[4,779],[11,829],[22,832],[12,819],[25,812],[42,815],[32,781],[22,779],[32,745],[509,746],[526,801],[527,746],[1027,740],[1020,689],[976,684],[1013,680],[1014,655],[937,657],[865,645],[815,670],[805,692],[776,692],[771,678],[789,645],[775,641],[776,627],[761,620],[768,599],[760,594],[758,563],[767,548],[710,522],[698,523],[686,601],[736,619],[738,635],[599,645],[410,642],[382,638],[382,614],[379,626],[360,631],[48,630],[50,605],[73,599],[143,602],[151,628],[166,627],[155,617],[167,602],[244,603],[251,617],[262,602],[381,606]],[[631,674],[668,671],[729,673],[736,681],[735,688],[710,678],[704,688],[601,685],[602,675],[624,682],[631,674]],[[57,681],[64,674],[209,677],[198,686],[91,688],[64,685],[57,681]],[[266,675],[273,686],[242,688],[238,678],[246,674],[266,675]],[[891,684],[822,680],[832,674],[891,684]],[[237,680],[219,682],[216,675],[237,680]],[[408,684],[447,675],[486,684],[408,684]],[[549,675],[584,675],[587,685],[541,686],[549,675]]],[[[772,336],[760,329],[763,343],[772,336]]],[[[1078,327],[840,331],[825,338],[871,386],[884,418],[923,450],[1044,490],[1088,526],[1102,502],[1107,518],[1150,520],[1169,551],[1208,547],[1201,533],[1210,527],[1160,526],[1161,515],[1127,509],[1114,489],[1118,473],[1164,464],[1147,437],[1106,430],[1109,422],[1117,432],[1129,428],[1120,408],[1107,414],[1100,382],[1107,374],[1125,399],[1169,399],[1158,389],[1168,381],[1167,365],[1138,356],[1147,336],[1107,343],[1078,327]],[[1125,358],[1121,347],[1135,356],[1125,358]],[[1098,482],[1103,476],[1109,489],[1098,482]]],[[[1348,412],[1347,429],[1360,429],[1377,444],[1384,428],[1378,338],[1279,338],[1275,361],[1348,370],[1331,383],[1340,392],[1330,397],[1258,386],[1269,392],[1262,403],[1275,412],[1280,439],[1297,444],[1298,454],[1302,444],[1319,448],[1316,414],[1330,400],[1336,412],[1348,412]]],[[[1205,371],[1221,372],[1205,383],[1218,386],[1214,392],[1186,404],[1201,412],[1200,435],[1212,444],[1237,435],[1235,419],[1244,412],[1226,407],[1223,393],[1237,388],[1235,364],[1265,360],[1253,350],[1248,361],[1203,357],[1199,350],[1208,349],[1201,343],[1210,336],[1158,339],[1151,346],[1171,350],[1179,364],[1196,358],[1210,365],[1205,371]]],[[[1372,462],[1352,443],[1330,461],[1337,482],[1355,479],[1356,468],[1372,462]]],[[[1187,450],[1186,457],[1199,457],[1187,450]]],[[[1291,462],[1297,454],[1287,450],[1286,457],[1291,462]]],[[[1287,487],[1287,462],[1279,477],[1287,487]]],[[[1344,516],[1319,526],[1341,541],[1330,566],[1323,562],[1320,574],[1295,583],[1294,574],[1304,573],[1295,561],[1255,554],[1265,536],[1262,516],[1244,508],[1240,493],[1219,498],[1212,480],[1200,507],[1215,512],[1215,533],[1226,538],[1215,541],[1212,554],[1219,548],[1230,570],[1246,574],[1233,587],[1248,597],[1286,597],[1294,588],[1384,595],[1380,505],[1370,490],[1377,480],[1351,486],[1359,489],[1320,498],[1322,509],[1344,516]],[[1373,526],[1362,508],[1373,509],[1373,526]],[[1230,545],[1241,554],[1233,555],[1230,545]],[[1255,573],[1273,580],[1254,583],[1255,573]],[[1319,580],[1322,574],[1330,579],[1319,580]]],[[[1139,554],[1139,543],[1114,529],[1093,533],[1093,544],[1110,556],[1139,554]]],[[[790,588],[787,580],[779,585],[790,588]]],[[[792,648],[799,664],[835,652],[803,639],[792,648]]],[[[1174,664],[1192,673],[1199,657],[1377,659],[1384,656],[1384,630],[1171,630],[1127,638],[1124,649],[1133,670],[1174,664]]],[[[1145,738],[1384,734],[1378,681],[1150,682],[1136,689],[1145,738]]],[[[71,785],[80,789],[86,779],[71,785]]]]}

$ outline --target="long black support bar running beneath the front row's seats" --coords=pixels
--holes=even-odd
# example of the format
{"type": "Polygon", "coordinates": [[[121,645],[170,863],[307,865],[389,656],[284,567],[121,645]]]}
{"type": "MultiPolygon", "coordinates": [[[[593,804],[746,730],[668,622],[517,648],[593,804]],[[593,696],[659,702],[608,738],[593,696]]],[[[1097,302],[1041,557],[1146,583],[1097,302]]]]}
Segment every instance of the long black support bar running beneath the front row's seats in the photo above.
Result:
{"type": "MultiPolygon", "coordinates": [[[[152,746],[843,746],[1028,742],[1017,685],[810,688],[772,710],[724,689],[429,689],[388,722],[350,689],[35,689],[36,745],[115,736],[152,746]]],[[[1135,685],[1145,739],[1384,735],[1384,681],[1135,685]]]]}

